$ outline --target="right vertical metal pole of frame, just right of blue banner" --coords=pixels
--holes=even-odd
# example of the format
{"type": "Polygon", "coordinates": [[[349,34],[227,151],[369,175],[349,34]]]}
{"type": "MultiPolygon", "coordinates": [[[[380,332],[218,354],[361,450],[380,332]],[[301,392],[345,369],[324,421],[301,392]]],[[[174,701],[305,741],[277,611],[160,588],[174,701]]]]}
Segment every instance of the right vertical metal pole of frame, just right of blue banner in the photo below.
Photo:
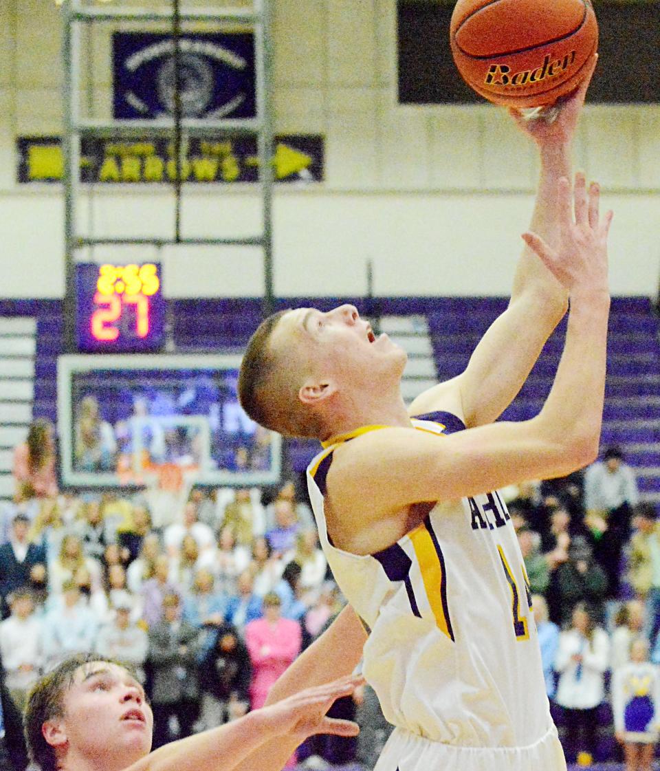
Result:
{"type": "Polygon", "coordinates": [[[254,49],[257,62],[257,113],[261,117],[258,134],[259,176],[263,201],[264,233],[264,317],[274,311],[273,288],[273,104],[270,0],[259,0],[261,21],[255,25],[254,49]]]}

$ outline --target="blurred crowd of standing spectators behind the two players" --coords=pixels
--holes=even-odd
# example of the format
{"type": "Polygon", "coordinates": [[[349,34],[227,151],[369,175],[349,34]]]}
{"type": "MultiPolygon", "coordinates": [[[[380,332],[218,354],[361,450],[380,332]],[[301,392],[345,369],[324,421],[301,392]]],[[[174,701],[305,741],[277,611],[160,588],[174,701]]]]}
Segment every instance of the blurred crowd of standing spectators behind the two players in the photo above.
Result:
{"type": "MultiPolygon", "coordinates": [[[[98,651],[140,672],[160,746],[262,705],[341,608],[295,483],[193,489],[177,518],[153,527],[140,493],[58,493],[42,456],[34,466],[29,442],[17,449],[16,500],[0,516],[0,657],[12,706],[22,709],[62,658],[98,651]]],[[[660,707],[650,722],[639,717],[660,705],[655,508],[639,502],[617,448],[584,474],[502,494],[568,758],[611,756],[617,739],[628,768],[644,769],[660,718],[660,707]]],[[[375,696],[359,689],[336,709],[362,722],[362,748],[318,737],[300,759],[323,767],[357,752],[371,767],[389,731],[375,696]]]]}

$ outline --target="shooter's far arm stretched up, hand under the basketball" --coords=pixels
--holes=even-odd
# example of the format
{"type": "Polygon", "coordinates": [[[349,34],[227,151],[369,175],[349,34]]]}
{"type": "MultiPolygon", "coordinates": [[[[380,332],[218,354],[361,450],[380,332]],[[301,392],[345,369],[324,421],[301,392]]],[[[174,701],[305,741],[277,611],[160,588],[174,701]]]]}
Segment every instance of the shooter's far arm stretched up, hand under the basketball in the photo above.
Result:
{"type": "MultiPolygon", "coordinates": [[[[594,55],[580,88],[564,102],[554,122],[526,121],[511,110],[540,154],[540,180],[530,231],[553,247],[559,227],[557,180],[571,175],[571,144],[595,63],[594,55]]],[[[517,265],[507,311],[484,335],[466,371],[419,396],[412,403],[410,414],[455,409],[469,427],[497,419],[520,391],[566,308],[566,288],[526,245],[517,265]]]]}

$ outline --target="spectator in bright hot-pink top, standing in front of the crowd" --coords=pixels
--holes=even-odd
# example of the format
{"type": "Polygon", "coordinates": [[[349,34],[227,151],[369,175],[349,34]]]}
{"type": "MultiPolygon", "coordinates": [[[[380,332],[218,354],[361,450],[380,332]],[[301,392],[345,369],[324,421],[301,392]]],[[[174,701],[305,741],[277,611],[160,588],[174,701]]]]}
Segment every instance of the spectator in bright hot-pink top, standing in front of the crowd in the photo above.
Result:
{"type": "Polygon", "coordinates": [[[264,597],[264,618],[245,626],[245,643],[252,662],[250,697],[252,709],[264,705],[271,685],[300,653],[298,621],[281,618],[280,598],[274,592],[264,597]]]}

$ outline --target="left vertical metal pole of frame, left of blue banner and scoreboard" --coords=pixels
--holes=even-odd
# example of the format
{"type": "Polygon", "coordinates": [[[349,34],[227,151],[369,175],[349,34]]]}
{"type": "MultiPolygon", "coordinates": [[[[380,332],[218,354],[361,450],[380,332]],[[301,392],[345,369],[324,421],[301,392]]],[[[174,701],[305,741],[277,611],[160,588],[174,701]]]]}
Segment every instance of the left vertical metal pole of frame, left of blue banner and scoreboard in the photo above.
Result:
{"type": "Polygon", "coordinates": [[[65,0],[64,35],[62,56],[64,59],[64,133],[62,155],[64,158],[64,348],[76,350],[76,187],[79,174],[79,141],[74,133],[76,122],[77,78],[74,66],[77,62],[76,22],[72,19],[72,2],[65,0]]]}

